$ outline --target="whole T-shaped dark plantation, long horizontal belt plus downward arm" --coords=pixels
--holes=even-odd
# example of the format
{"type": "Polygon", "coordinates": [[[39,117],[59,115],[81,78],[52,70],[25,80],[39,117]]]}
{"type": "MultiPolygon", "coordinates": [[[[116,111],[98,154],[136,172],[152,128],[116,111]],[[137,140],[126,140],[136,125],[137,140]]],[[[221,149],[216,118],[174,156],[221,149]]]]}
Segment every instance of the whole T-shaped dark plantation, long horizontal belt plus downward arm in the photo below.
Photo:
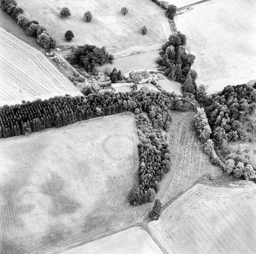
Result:
{"type": "Polygon", "coordinates": [[[170,111],[186,111],[190,103],[168,92],[89,94],[27,101],[0,108],[0,137],[12,137],[50,127],[62,127],[93,117],[131,111],[139,130],[139,186],[131,204],[153,201],[158,182],[170,170],[170,153],[163,130],[168,130],[170,111]],[[147,113],[147,114],[145,114],[147,113]],[[145,115],[146,116],[145,116],[145,115]]]}

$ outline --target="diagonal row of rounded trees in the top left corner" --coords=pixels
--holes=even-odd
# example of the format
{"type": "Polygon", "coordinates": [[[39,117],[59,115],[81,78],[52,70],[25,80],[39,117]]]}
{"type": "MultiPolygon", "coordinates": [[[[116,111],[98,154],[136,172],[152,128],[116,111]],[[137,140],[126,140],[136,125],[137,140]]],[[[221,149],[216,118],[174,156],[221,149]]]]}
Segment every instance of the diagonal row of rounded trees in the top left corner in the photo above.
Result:
{"type": "Polygon", "coordinates": [[[11,17],[24,28],[29,36],[37,37],[37,43],[42,47],[48,49],[56,46],[56,40],[38,23],[38,21],[29,21],[28,18],[24,16],[23,9],[17,6],[15,0],[1,0],[1,8],[11,15],[11,17]]]}

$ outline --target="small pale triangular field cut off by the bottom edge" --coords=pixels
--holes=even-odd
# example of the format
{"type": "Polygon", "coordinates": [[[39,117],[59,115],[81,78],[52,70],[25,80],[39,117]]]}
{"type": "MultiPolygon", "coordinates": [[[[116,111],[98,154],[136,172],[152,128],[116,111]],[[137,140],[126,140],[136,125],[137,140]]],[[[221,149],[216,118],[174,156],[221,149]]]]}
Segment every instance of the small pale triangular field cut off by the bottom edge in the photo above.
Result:
{"type": "Polygon", "coordinates": [[[141,227],[132,227],[102,239],[86,243],[63,254],[162,254],[163,252],[141,227]]]}

